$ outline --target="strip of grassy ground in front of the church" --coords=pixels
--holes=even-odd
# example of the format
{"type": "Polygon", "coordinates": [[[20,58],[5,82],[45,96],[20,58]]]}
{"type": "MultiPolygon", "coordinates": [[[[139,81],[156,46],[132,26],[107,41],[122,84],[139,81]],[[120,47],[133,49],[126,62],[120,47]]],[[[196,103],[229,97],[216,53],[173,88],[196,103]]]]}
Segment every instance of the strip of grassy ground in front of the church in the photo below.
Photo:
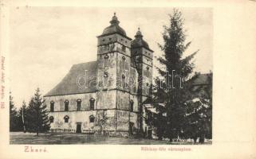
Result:
{"type": "MultiPolygon", "coordinates": [[[[61,134],[47,133],[36,134],[10,132],[10,144],[35,144],[35,145],[53,145],[53,144],[94,144],[94,145],[167,145],[170,142],[152,139],[139,138],[116,138],[102,137],[93,134],[61,134]]],[[[172,142],[175,145],[192,145],[193,142],[172,142]]],[[[207,142],[206,144],[211,144],[207,142]]]]}

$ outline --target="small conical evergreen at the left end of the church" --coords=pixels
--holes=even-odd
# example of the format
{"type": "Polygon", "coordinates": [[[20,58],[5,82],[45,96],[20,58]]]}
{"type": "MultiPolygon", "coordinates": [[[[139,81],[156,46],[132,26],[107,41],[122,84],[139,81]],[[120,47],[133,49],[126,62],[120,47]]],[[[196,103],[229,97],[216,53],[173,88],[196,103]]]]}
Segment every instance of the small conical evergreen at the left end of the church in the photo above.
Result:
{"type": "Polygon", "coordinates": [[[45,100],[42,99],[40,90],[37,88],[33,98],[30,99],[30,104],[26,111],[27,130],[37,133],[37,136],[40,132],[49,130],[49,118],[45,108],[45,100]]]}

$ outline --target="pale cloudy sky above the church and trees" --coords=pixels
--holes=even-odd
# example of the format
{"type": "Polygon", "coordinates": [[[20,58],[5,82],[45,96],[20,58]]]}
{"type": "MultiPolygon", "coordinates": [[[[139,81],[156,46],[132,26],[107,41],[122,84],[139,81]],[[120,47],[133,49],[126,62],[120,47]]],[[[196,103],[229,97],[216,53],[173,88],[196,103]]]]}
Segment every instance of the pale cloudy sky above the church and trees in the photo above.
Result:
{"type": "MultiPolygon", "coordinates": [[[[195,72],[212,70],[212,10],[180,8],[190,48],[199,49],[195,72]]],[[[96,36],[109,25],[113,13],[127,36],[138,27],[155,56],[163,54],[163,25],[172,8],[15,7],[10,10],[10,91],[16,107],[28,103],[37,87],[44,95],[59,83],[73,64],[96,60],[96,36]]],[[[154,60],[156,64],[156,60],[154,60]]]]}

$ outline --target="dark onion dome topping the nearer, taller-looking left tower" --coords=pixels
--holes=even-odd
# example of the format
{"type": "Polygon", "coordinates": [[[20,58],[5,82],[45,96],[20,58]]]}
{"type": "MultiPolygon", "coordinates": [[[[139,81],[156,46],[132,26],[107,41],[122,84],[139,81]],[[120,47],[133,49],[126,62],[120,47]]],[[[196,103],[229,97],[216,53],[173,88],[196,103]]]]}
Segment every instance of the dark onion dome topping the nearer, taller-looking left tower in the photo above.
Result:
{"type": "Polygon", "coordinates": [[[112,20],[109,21],[109,22],[110,22],[111,25],[104,29],[102,35],[107,35],[107,34],[111,34],[111,33],[119,33],[121,35],[126,36],[126,33],[125,33],[124,29],[122,29],[119,26],[120,21],[118,21],[118,19],[116,17],[116,13],[114,13],[114,16],[112,17],[112,20]]]}

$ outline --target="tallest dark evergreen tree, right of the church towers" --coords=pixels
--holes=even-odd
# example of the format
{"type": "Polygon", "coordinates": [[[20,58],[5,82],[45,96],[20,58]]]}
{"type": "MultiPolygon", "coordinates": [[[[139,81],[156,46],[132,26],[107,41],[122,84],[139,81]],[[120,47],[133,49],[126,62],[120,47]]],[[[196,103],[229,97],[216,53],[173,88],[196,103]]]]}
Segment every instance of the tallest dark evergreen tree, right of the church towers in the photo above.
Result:
{"type": "MultiPolygon", "coordinates": [[[[183,122],[186,101],[186,91],[183,88],[183,81],[191,75],[194,64],[191,59],[195,56],[193,52],[190,56],[183,57],[183,53],[191,45],[191,41],[186,43],[186,34],[183,28],[183,17],[179,10],[173,10],[170,16],[170,24],[163,26],[163,45],[159,45],[163,51],[163,56],[158,58],[163,68],[157,68],[160,78],[156,78],[154,87],[154,103],[156,110],[165,114],[165,122],[159,123],[156,129],[164,127],[161,136],[173,138],[180,136],[183,132],[183,122]],[[171,74],[171,76],[170,76],[171,74]]],[[[162,117],[161,117],[162,118],[162,117]]]]}

